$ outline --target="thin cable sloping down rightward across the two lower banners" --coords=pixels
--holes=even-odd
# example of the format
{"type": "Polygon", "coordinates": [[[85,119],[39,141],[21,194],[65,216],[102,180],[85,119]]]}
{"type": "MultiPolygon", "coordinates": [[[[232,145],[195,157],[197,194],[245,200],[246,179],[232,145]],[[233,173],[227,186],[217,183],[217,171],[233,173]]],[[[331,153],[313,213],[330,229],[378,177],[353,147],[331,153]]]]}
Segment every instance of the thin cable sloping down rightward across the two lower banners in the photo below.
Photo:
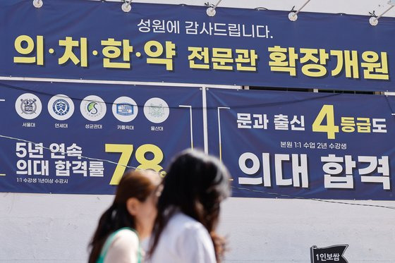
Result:
{"type": "MultiPolygon", "coordinates": [[[[6,139],[9,139],[9,140],[18,140],[18,141],[21,141],[21,142],[30,142],[30,143],[34,144],[35,146],[42,147],[42,149],[48,149],[50,152],[60,152],[61,154],[67,154],[67,152],[62,152],[60,150],[54,151],[54,150],[52,150],[52,149],[50,149],[48,147],[44,147],[44,146],[39,145],[38,143],[32,142],[30,140],[24,140],[24,139],[11,137],[11,136],[6,136],[6,135],[0,135],[0,137],[6,138],[6,139]]],[[[117,163],[115,161],[110,161],[110,160],[107,160],[107,159],[98,159],[98,158],[92,158],[92,157],[85,157],[85,156],[82,156],[82,155],[80,157],[84,158],[84,159],[88,159],[88,160],[94,160],[94,161],[106,161],[106,162],[108,162],[110,164],[121,165],[121,166],[124,166],[124,167],[129,168],[129,169],[142,170],[142,169],[138,169],[138,168],[136,168],[134,166],[128,166],[128,165],[124,165],[124,164],[119,164],[119,163],[117,163]]],[[[155,172],[155,173],[158,173],[158,172],[155,172]]],[[[158,175],[161,176],[160,173],[158,173],[158,175]]],[[[317,201],[317,202],[328,202],[328,203],[332,203],[332,204],[348,204],[348,205],[358,205],[358,206],[363,206],[363,207],[379,207],[379,208],[386,208],[386,209],[395,209],[395,207],[387,207],[387,206],[384,206],[384,205],[377,205],[377,204],[360,204],[360,203],[339,202],[339,201],[332,201],[332,200],[322,200],[322,199],[316,199],[316,198],[305,198],[305,197],[298,197],[298,196],[293,196],[293,195],[279,194],[277,192],[265,192],[265,191],[262,191],[262,190],[252,190],[252,189],[249,189],[249,188],[241,188],[241,187],[236,187],[236,186],[231,186],[231,188],[238,189],[238,190],[248,190],[250,192],[261,192],[261,193],[266,194],[266,195],[277,195],[277,196],[281,196],[281,197],[288,197],[288,198],[299,199],[299,200],[311,200],[311,201],[317,201]]]]}

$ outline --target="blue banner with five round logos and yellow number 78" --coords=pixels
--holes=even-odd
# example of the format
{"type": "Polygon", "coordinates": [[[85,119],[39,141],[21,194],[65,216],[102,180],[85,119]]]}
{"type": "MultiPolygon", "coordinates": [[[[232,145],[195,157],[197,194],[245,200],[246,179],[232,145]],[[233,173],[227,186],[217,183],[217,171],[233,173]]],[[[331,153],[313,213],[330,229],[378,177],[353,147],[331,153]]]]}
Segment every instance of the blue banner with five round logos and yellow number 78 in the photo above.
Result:
{"type": "Polygon", "coordinates": [[[1,82],[0,90],[0,192],[111,194],[126,169],[165,173],[174,154],[203,145],[198,87],[1,82]]]}

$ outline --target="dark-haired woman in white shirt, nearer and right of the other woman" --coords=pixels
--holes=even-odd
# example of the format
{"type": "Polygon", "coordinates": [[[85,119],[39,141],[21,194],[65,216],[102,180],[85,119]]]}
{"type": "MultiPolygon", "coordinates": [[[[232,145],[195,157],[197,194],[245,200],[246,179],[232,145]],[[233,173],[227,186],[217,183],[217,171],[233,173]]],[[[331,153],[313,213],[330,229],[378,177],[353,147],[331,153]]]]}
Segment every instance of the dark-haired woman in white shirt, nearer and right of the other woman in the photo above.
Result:
{"type": "Polygon", "coordinates": [[[171,163],[162,184],[147,262],[219,262],[224,238],[214,231],[219,204],[230,193],[226,167],[215,157],[186,150],[171,163]]]}

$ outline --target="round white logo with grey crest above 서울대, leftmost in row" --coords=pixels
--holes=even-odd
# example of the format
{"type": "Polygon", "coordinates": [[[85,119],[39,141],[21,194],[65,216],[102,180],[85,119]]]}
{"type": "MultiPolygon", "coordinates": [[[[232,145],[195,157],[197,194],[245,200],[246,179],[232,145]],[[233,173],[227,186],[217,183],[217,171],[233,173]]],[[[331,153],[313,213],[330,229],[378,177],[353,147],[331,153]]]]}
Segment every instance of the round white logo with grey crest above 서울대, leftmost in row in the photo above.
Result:
{"type": "Polygon", "coordinates": [[[39,116],[42,110],[42,104],[35,94],[25,93],[16,99],[15,109],[19,116],[31,120],[39,116]]]}

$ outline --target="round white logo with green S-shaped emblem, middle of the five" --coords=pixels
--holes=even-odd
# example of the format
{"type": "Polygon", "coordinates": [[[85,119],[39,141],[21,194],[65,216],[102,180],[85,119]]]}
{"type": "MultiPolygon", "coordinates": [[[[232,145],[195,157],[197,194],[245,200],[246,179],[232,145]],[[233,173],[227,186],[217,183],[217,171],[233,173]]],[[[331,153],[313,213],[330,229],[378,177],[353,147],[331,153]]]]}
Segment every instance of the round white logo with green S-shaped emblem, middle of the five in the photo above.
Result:
{"type": "Polygon", "coordinates": [[[80,111],[88,121],[99,121],[106,115],[107,106],[101,97],[89,95],[81,102],[80,111]]]}

